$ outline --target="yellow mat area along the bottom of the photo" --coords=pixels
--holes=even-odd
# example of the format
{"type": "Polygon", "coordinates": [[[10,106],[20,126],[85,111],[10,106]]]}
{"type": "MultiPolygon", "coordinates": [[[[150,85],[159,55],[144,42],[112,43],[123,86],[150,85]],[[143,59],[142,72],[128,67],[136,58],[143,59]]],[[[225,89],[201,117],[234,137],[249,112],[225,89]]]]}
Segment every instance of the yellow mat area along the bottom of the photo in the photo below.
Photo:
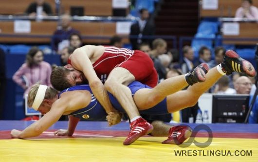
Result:
{"type": "MultiPolygon", "coordinates": [[[[258,162],[257,139],[213,138],[206,148],[194,143],[186,148],[161,144],[165,139],[142,137],[129,146],[123,145],[125,137],[0,140],[0,162],[258,162]],[[219,150],[217,155],[207,153],[216,150],[219,150]],[[176,156],[175,151],[184,151],[186,156],[176,156]],[[232,156],[228,155],[229,151],[232,156]]],[[[207,141],[206,138],[195,140],[207,141]]]]}

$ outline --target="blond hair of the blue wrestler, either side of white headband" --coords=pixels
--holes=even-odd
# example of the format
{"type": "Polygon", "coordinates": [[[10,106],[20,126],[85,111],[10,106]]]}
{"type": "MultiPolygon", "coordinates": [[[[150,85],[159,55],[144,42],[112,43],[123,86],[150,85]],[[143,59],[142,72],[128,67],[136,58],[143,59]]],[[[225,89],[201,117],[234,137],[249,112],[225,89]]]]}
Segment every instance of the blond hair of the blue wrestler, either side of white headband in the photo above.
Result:
{"type": "MultiPolygon", "coordinates": [[[[32,104],[35,100],[39,85],[40,85],[40,82],[37,82],[36,84],[34,84],[31,87],[31,89],[29,91],[29,94],[28,94],[28,106],[29,107],[32,106],[32,104]]],[[[45,94],[44,99],[54,99],[57,94],[58,94],[58,91],[56,91],[52,87],[48,87],[47,90],[46,90],[46,94],[45,94]]]]}

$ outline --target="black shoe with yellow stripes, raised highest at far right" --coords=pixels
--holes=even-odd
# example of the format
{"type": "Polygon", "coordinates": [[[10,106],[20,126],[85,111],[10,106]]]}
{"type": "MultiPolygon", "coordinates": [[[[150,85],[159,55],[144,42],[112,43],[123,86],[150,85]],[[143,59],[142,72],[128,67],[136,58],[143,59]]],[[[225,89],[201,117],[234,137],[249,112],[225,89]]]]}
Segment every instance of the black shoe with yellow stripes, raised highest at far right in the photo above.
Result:
{"type": "Polygon", "coordinates": [[[254,77],[256,74],[252,63],[240,58],[240,56],[233,50],[226,51],[221,67],[222,71],[226,73],[226,75],[230,75],[234,71],[245,73],[249,77],[254,77]]]}

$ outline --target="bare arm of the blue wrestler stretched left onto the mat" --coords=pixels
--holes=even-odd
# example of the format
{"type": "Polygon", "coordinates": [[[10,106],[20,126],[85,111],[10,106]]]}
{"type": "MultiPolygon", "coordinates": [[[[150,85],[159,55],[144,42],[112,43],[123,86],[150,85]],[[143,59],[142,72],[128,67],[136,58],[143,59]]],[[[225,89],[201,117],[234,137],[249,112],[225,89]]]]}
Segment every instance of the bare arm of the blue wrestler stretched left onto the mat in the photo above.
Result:
{"type": "Polygon", "coordinates": [[[20,139],[39,136],[43,131],[47,130],[58,121],[63,113],[86,107],[90,101],[91,93],[88,91],[65,92],[61,95],[60,99],[53,103],[51,110],[40,120],[31,124],[22,132],[15,129],[12,130],[11,136],[20,139]]]}

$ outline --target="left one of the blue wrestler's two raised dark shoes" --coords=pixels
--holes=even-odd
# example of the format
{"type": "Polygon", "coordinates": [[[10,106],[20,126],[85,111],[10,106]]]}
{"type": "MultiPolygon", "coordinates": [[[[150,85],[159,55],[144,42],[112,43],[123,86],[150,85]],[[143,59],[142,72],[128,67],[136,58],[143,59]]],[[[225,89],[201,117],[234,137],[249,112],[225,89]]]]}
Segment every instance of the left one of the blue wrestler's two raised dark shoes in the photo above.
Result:
{"type": "Polygon", "coordinates": [[[201,63],[196,68],[192,69],[185,75],[185,81],[189,85],[193,85],[197,82],[203,82],[206,80],[206,73],[209,71],[209,65],[207,63],[201,63]]]}

